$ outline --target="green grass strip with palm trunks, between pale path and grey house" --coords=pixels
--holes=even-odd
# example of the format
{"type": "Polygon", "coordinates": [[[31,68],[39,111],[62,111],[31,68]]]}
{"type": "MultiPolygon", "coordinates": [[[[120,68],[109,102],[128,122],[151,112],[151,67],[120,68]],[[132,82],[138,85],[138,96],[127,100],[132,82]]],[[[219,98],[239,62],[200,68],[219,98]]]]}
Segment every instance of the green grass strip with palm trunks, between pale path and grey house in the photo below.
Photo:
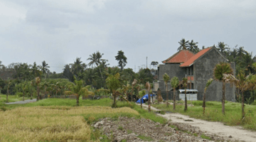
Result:
{"type": "MultiPolygon", "coordinates": [[[[188,115],[196,119],[207,121],[220,121],[229,126],[243,126],[245,129],[256,131],[256,106],[245,105],[245,119],[242,118],[241,104],[237,102],[225,102],[225,115],[222,114],[221,102],[206,102],[206,114],[203,115],[203,101],[193,101],[193,107],[188,107],[188,111],[184,111],[183,102],[179,101],[176,110],[170,105],[166,108],[166,104],[154,104],[153,107],[164,111],[178,112],[188,115]],[[181,104],[182,103],[182,104],[181,104]]],[[[188,104],[191,104],[188,101],[188,104]]]]}

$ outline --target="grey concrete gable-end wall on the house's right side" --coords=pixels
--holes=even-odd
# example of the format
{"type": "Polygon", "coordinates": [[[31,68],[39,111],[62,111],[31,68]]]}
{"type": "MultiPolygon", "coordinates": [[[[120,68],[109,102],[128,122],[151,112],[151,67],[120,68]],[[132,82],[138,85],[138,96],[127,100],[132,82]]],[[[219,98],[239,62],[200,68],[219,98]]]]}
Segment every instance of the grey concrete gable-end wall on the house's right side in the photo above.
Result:
{"type": "MultiPolygon", "coordinates": [[[[219,62],[226,62],[218,50],[210,49],[208,53],[196,60],[193,64],[194,68],[194,88],[198,89],[198,100],[203,99],[203,90],[206,87],[206,82],[213,78],[213,69],[219,62]]],[[[235,63],[231,63],[235,73],[235,63]]],[[[222,99],[222,82],[213,81],[206,91],[207,101],[221,101],[222,99]]],[[[225,99],[235,102],[235,87],[230,87],[230,84],[225,85],[225,99]]]]}

